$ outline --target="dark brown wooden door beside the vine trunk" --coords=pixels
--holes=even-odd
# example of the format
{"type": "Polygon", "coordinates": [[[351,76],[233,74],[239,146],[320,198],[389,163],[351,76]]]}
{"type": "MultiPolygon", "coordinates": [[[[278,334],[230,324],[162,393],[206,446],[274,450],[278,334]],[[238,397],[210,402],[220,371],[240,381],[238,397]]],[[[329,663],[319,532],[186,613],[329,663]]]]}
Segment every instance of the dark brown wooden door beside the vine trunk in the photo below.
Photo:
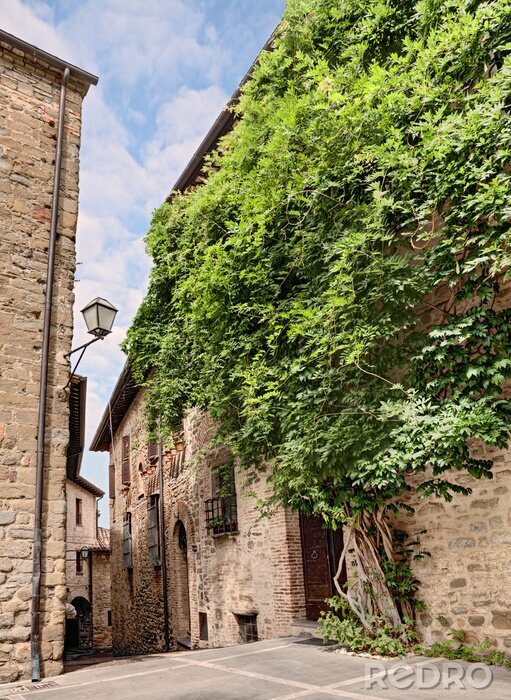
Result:
{"type": "Polygon", "coordinates": [[[323,525],[317,516],[300,517],[307,620],[317,620],[327,607],[325,598],[334,595],[333,577],[342,551],[342,530],[323,525]]]}

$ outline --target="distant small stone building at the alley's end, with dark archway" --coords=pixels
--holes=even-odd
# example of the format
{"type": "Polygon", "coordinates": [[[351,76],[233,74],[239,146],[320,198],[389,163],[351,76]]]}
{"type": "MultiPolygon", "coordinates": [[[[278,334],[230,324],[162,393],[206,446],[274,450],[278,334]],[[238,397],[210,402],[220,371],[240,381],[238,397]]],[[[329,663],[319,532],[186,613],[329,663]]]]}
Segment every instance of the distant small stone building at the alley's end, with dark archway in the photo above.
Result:
{"type": "Polygon", "coordinates": [[[73,376],[67,452],[66,652],[112,646],[110,531],[98,526],[104,492],[80,474],[86,379],[73,376]]]}

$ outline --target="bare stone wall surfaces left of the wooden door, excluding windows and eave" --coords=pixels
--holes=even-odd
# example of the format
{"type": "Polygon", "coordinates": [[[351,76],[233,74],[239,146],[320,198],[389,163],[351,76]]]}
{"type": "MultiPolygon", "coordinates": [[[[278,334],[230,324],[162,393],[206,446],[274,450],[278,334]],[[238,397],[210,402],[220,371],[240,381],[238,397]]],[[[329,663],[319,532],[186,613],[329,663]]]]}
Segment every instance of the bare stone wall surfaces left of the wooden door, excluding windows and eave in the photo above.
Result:
{"type": "MultiPolygon", "coordinates": [[[[207,418],[193,412],[185,421],[183,444],[165,453],[167,595],[174,648],[178,640],[192,647],[240,642],[236,614],[256,614],[261,639],[291,634],[291,623],[305,618],[298,517],[281,511],[271,519],[259,518],[249,491],[262,497],[264,479],[249,488],[244,476],[236,473],[236,533],[213,536],[206,528],[204,501],[212,495],[214,458],[198,457],[210,436],[207,418]],[[203,622],[207,620],[207,640],[200,639],[199,613],[203,622]]],[[[149,561],[147,533],[148,502],[159,488],[157,465],[150,464],[147,456],[142,391],[117,431],[111,460],[115,464],[115,499],[111,500],[114,653],[162,651],[161,570],[149,561]],[[124,435],[130,435],[132,447],[129,486],[121,483],[124,435]],[[124,568],[122,555],[127,511],[132,517],[131,570],[124,568]]]]}

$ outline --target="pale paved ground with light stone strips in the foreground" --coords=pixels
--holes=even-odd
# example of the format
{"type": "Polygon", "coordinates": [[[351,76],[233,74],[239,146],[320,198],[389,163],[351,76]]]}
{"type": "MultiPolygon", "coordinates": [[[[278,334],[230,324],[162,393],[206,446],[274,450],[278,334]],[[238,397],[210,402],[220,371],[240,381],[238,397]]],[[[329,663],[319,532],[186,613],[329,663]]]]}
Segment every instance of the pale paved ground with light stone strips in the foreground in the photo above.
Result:
{"type": "MultiPolygon", "coordinates": [[[[73,671],[39,686],[4,686],[0,700],[12,697],[26,700],[319,700],[352,698],[403,700],[409,693],[414,700],[456,698],[464,700],[507,700],[511,697],[511,671],[491,669],[493,680],[486,690],[449,690],[440,687],[407,689],[393,686],[391,677],[373,670],[373,686],[366,684],[369,659],[341,655],[329,647],[317,646],[300,638],[276,639],[223,649],[155,654],[119,659],[100,666],[73,671]],[[381,687],[387,685],[387,688],[381,687]],[[26,691],[24,689],[27,689],[26,691]]],[[[441,668],[442,660],[414,657],[407,659],[412,669],[421,665],[441,668]]],[[[388,664],[388,668],[402,665],[388,664]]],[[[467,665],[463,664],[466,668],[467,665]]],[[[430,674],[431,676],[431,674],[430,674]]],[[[420,677],[420,674],[419,674],[420,677]]],[[[426,681],[428,675],[424,676],[426,681]]]]}

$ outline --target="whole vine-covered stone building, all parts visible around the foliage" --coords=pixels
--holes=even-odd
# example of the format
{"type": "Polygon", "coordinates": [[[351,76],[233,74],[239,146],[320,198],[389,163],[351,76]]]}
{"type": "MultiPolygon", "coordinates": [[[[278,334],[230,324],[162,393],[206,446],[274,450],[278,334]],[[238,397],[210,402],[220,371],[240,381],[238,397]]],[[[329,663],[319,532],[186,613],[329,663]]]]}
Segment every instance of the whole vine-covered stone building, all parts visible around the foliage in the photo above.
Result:
{"type": "MultiPolygon", "coordinates": [[[[235,119],[232,110],[221,113],[173,191],[204,181],[204,158],[235,119]]],[[[511,306],[511,287],[498,303],[511,306]]],[[[211,426],[196,412],[184,422],[182,443],[163,450],[160,477],[143,393],[126,366],[92,444],[110,451],[114,651],[163,650],[167,631],[175,648],[305,629],[304,620],[317,620],[332,593],[342,534],[286,511],[259,519],[255,500],[264,495],[264,478],[250,496],[244,474],[229,472],[229,455],[207,449],[211,426]]],[[[432,556],[413,567],[422,582],[426,611],[418,626],[427,643],[444,639],[452,626],[469,639],[511,648],[511,451],[491,457],[493,481],[454,474],[471,495],[413,502],[415,514],[395,522],[410,539],[426,530],[421,543],[432,556]]]]}

